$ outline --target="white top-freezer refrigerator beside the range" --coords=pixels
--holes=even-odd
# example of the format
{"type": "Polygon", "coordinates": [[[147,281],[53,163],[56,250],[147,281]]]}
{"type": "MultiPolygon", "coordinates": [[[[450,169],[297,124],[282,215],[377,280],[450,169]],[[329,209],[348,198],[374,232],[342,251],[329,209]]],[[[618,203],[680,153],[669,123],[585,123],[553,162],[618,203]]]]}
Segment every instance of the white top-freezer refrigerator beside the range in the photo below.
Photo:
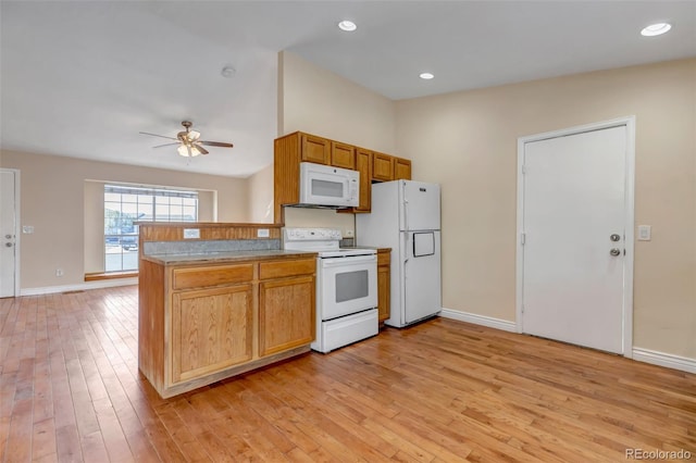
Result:
{"type": "Polygon", "coordinates": [[[386,325],[400,328],[442,310],[439,227],[439,185],[372,185],[372,212],[356,215],[356,240],[358,246],[391,248],[386,325]]]}

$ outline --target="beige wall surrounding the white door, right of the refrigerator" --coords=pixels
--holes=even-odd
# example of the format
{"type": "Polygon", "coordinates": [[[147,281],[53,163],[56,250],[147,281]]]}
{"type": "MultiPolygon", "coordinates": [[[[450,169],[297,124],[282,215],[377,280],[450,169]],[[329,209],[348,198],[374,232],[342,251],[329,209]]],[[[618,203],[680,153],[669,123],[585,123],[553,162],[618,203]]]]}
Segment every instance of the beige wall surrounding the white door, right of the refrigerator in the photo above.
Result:
{"type": "Polygon", "coordinates": [[[696,358],[696,60],[399,101],[397,151],[442,185],[443,305],[514,321],[518,137],[636,116],[634,347],[696,358]]]}

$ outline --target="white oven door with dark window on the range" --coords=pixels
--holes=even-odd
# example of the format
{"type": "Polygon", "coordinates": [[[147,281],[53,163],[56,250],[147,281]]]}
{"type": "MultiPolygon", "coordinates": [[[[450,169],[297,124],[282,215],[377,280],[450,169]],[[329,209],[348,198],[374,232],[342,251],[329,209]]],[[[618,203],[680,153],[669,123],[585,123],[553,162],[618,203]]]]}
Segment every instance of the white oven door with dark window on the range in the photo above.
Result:
{"type": "Polygon", "coordinates": [[[377,306],[377,256],[319,260],[321,320],[327,321],[377,306]]]}

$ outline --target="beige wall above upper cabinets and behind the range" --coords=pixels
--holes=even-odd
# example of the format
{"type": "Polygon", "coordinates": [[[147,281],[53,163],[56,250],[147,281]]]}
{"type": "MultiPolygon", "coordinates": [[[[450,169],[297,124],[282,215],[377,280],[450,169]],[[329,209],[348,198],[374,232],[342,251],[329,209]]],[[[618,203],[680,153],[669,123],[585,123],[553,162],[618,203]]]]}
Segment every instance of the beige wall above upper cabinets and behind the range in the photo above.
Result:
{"type": "MultiPolygon", "coordinates": [[[[396,154],[394,101],[283,51],[278,53],[278,135],[297,130],[396,154]]],[[[327,210],[286,208],[285,223],[355,232],[351,214],[327,210]]]]}

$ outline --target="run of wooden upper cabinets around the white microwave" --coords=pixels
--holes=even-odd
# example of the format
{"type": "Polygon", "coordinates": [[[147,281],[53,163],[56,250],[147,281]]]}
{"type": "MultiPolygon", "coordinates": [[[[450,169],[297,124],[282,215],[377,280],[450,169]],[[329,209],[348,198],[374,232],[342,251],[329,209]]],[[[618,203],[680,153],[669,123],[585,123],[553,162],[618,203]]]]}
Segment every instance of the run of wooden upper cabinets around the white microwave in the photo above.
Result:
{"type": "Polygon", "coordinates": [[[300,197],[300,162],[333,165],[360,172],[360,205],[339,212],[370,212],[372,183],[411,179],[411,161],[357,148],[315,135],[295,132],[276,138],[273,163],[273,217],[284,223],[283,205],[300,197]]]}

